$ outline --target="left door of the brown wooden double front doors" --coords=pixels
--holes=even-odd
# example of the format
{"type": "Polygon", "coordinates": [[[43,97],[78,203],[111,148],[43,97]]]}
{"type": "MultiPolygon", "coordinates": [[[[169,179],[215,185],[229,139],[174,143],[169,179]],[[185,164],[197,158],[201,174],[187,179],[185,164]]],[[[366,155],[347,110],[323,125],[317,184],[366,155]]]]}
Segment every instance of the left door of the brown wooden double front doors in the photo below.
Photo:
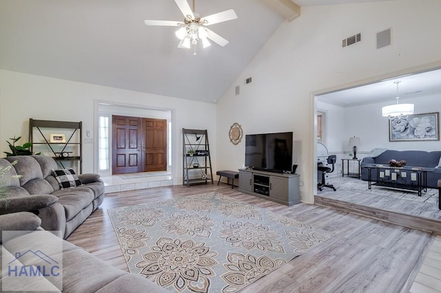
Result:
{"type": "Polygon", "coordinates": [[[112,174],[143,171],[142,119],[112,116],[112,174]]]}

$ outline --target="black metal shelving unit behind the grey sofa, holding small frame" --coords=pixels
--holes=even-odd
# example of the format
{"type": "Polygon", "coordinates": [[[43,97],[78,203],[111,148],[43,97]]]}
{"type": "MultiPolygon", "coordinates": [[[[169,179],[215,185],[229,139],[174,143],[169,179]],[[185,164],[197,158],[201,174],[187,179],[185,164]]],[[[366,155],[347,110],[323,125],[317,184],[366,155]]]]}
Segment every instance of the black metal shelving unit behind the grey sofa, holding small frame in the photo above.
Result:
{"type": "Polygon", "coordinates": [[[79,173],[83,173],[83,122],[52,121],[29,119],[29,142],[32,142],[31,151],[41,151],[39,145],[47,146],[50,155],[61,167],[65,169],[63,162],[78,162],[79,173]],[[41,134],[43,142],[37,141],[34,130],[41,134]],[[48,129],[60,129],[65,135],[65,142],[50,142],[48,129]]]}

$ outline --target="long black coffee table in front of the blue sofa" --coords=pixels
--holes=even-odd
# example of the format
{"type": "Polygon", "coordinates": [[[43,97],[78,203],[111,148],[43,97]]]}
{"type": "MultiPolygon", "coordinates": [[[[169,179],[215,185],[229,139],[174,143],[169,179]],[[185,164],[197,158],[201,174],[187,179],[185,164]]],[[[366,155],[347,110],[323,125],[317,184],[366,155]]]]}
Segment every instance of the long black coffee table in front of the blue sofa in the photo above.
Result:
{"type": "Polygon", "coordinates": [[[424,167],[393,167],[384,164],[366,164],[362,166],[368,170],[368,186],[382,186],[398,188],[408,191],[418,191],[418,196],[427,191],[427,172],[435,171],[435,168],[424,167]],[[376,179],[372,172],[376,172],[376,179]],[[408,179],[410,177],[410,180],[408,179]],[[404,179],[405,178],[405,179],[404,179]]]}

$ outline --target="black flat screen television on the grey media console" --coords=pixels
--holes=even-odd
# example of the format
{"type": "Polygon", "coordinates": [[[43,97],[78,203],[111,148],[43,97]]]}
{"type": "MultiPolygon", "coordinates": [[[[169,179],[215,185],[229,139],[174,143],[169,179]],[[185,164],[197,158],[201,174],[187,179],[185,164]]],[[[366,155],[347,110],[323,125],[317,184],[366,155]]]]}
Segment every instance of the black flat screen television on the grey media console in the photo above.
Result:
{"type": "Polygon", "coordinates": [[[255,170],[283,173],[291,171],[293,133],[245,135],[245,166],[255,170]]]}

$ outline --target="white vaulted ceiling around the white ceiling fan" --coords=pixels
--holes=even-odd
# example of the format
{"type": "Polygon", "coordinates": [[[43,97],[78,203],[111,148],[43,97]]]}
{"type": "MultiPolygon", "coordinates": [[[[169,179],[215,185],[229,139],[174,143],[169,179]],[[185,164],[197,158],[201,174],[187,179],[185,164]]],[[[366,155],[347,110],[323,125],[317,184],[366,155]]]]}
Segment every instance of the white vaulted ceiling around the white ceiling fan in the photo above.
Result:
{"type": "MultiPolygon", "coordinates": [[[[210,27],[228,45],[198,47],[194,56],[176,47],[176,28],[143,23],[182,21],[173,0],[1,0],[0,68],[216,102],[284,21],[265,1],[196,0],[202,16],[234,9],[238,19],[210,27]]],[[[315,6],[386,0],[292,1],[315,6]]]]}

